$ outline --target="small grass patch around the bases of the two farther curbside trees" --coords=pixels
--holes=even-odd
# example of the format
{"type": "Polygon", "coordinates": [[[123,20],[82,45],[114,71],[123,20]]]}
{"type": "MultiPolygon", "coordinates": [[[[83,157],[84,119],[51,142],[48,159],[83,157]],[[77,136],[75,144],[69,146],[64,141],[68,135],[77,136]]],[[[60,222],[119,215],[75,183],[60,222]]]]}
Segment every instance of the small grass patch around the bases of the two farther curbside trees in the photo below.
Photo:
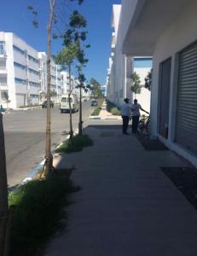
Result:
{"type": "Polygon", "coordinates": [[[72,141],[69,142],[69,139],[61,144],[59,148],[55,149],[56,153],[72,153],[72,152],[78,152],[82,151],[84,147],[89,147],[93,145],[93,141],[90,139],[90,137],[85,134],[82,136],[75,136],[72,138],[72,141]]]}

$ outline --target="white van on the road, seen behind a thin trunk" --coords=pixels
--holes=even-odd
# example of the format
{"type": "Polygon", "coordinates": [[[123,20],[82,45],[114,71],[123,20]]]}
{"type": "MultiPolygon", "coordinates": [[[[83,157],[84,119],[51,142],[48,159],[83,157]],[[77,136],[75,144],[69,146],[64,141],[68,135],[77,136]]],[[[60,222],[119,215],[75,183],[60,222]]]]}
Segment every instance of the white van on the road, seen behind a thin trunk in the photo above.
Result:
{"type": "MultiPolygon", "coordinates": [[[[70,96],[71,99],[71,108],[72,108],[72,112],[76,112],[78,111],[79,108],[79,103],[78,103],[78,97],[75,94],[72,94],[70,96]]],[[[61,113],[64,112],[69,112],[69,97],[68,94],[63,94],[61,96],[61,113]]]]}

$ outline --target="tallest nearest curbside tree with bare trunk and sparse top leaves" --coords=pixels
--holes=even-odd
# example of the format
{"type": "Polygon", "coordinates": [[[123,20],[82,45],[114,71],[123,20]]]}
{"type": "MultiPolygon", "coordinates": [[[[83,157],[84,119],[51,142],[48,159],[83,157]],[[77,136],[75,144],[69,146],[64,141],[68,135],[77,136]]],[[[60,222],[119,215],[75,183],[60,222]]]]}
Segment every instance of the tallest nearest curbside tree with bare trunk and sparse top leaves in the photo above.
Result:
{"type": "MultiPolygon", "coordinates": [[[[77,1],[78,4],[84,2],[84,0],[70,0],[71,2],[77,1]]],[[[46,145],[45,145],[45,163],[44,163],[44,175],[48,177],[51,172],[54,171],[53,167],[53,155],[51,154],[51,129],[50,129],[50,60],[51,60],[51,35],[53,25],[57,22],[57,15],[55,14],[55,4],[57,1],[49,0],[49,20],[47,26],[47,121],[46,121],[46,145]]],[[[67,3],[65,3],[67,6],[67,3]]],[[[38,27],[37,15],[38,12],[31,6],[28,5],[29,9],[34,15],[35,19],[32,20],[32,25],[38,27]]],[[[56,36],[55,36],[56,37],[56,36]]]]}

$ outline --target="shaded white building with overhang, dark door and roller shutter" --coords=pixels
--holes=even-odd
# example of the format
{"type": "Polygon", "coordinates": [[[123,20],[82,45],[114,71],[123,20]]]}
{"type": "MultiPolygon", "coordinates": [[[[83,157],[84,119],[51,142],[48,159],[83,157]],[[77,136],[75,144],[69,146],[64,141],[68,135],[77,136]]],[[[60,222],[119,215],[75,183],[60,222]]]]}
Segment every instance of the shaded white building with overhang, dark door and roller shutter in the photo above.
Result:
{"type": "Polygon", "coordinates": [[[153,55],[151,133],[197,166],[197,2],[123,0],[122,50],[153,55]]]}

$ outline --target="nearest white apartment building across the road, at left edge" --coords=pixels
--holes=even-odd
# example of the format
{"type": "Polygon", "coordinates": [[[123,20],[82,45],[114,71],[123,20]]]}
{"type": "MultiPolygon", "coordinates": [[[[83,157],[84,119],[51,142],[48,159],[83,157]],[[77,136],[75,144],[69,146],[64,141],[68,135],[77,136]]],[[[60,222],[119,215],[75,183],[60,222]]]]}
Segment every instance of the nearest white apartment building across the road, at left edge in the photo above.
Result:
{"type": "Polygon", "coordinates": [[[38,51],[10,32],[0,32],[0,90],[9,95],[9,108],[39,100],[38,51]]]}

